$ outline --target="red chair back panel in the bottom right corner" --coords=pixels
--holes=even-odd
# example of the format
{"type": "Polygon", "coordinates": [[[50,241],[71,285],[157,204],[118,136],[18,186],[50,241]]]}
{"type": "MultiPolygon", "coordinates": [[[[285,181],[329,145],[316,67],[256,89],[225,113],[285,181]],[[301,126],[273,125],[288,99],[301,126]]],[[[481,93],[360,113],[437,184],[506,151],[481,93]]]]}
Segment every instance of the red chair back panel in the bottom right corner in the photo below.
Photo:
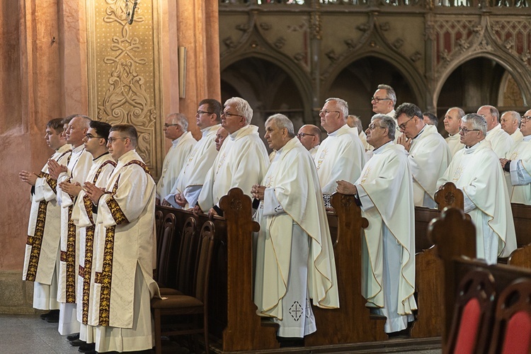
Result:
{"type": "Polygon", "coordinates": [[[513,314],[507,324],[503,341],[503,354],[529,353],[531,340],[531,318],[527,312],[513,314]]]}

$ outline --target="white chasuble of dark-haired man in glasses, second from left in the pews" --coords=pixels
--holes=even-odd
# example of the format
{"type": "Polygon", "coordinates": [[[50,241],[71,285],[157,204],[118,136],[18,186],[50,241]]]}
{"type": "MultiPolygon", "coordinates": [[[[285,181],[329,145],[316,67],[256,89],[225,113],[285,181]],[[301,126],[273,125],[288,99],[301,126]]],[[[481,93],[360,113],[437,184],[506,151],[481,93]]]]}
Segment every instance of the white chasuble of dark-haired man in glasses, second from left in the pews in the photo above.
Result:
{"type": "Polygon", "coordinates": [[[208,170],[214,164],[214,160],[217,156],[216,150],[216,132],[221,125],[213,125],[207,127],[202,132],[202,137],[192,152],[188,155],[185,161],[183,169],[177,178],[176,183],[173,185],[171,193],[166,197],[166,200],[170,202],[173,207],[181,208],[175,202],[175,195],[177,193],[183,194],[184,198],[188,200],[188,207],[193,207],[198,201],[199,193],[201,191],[208,170]]]}

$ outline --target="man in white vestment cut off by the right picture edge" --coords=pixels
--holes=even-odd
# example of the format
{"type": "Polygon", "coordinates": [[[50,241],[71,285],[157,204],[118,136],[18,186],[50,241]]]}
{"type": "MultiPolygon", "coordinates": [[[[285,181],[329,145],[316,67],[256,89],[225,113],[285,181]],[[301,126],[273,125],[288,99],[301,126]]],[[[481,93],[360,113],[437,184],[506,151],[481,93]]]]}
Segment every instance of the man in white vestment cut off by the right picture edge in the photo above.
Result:
{"type": "Polygon", "coordinates": [[[520,131],[523,139],[500,159],[500,163],[505,171],[510,202],[531,205],[531,110],[522,116],[520,131]]]}

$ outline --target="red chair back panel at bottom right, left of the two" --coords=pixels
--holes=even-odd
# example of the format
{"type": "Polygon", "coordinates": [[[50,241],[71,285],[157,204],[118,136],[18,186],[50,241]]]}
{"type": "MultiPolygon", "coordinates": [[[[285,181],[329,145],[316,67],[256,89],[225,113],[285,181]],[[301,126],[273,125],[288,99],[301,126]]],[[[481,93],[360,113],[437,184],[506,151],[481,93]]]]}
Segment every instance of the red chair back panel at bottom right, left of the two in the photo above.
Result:
{"type": "Polygon", "coordinates": [[[454,353],[474,353],[477,333],[479,331],[479,316],[479,301],[474,297],[474,299],[470,299],[469,302],[464,305],[454,353]]]}

